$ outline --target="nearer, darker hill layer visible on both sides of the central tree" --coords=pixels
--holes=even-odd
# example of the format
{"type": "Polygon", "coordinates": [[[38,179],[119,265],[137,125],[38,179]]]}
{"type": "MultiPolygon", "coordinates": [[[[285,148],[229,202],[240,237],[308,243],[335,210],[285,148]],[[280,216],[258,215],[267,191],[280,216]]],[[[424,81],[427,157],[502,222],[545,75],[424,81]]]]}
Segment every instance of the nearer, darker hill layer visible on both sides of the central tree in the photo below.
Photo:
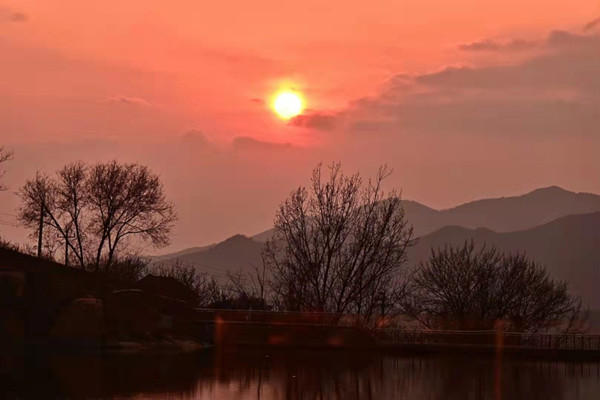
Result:
{"type": "MultiPolygon", "coordinates": [[[[566,280],[574,292],[600,309],[600,213],[571,215],[532,229],[496,233],[489,229],[444,227],[419,239],[409,251],[409,265],[425,261],[431,248],[460,245],[473,239],[503,251],[523,251],[546,265],[552,276],[566,280]]],[[[245,236],[234,236],[208,250],[177,258],[192,262],[200,271],[223,277],[225,271],[250,271],[260,265],[262,244],[245,236]]]]}

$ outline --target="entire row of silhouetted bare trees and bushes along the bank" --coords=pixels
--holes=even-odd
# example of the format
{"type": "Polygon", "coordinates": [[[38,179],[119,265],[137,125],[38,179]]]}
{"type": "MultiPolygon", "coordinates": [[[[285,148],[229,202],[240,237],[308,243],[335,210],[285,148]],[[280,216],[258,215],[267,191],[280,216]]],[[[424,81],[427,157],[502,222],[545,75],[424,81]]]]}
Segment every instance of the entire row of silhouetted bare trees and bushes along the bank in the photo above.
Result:
{"type": "MultiPolygon", "coordinates": [[[[0,155],[0,162],[11,157],[1,148],[0,155]]],[[[328,170],[324,177],[319,165],[311,186],[281,204],[262,263],[226,279],[139,256],[142,243],[169,242],[176,214],[158,176],[137,164],[79,162],[27,181],[19,218],[38,247],[17,250],[88,271],[105,291],[143,287],[190,307],[352,313],[373,321],[404,314],[436,329],[492,329],[499,320],[521,332],[582,328],[581,301],[524,254],[446,245],[410,272],[416,241],[399,193],[383,189],[391,172],[381,167],[363,181],[339,164],[328,170]]]]}

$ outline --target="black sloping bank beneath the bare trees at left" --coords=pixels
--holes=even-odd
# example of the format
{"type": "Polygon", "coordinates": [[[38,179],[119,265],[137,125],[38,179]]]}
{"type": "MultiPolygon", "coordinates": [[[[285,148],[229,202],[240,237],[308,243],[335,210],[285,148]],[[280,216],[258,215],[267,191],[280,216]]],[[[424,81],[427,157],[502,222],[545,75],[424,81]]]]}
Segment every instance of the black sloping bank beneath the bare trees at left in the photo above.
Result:
{"type": "Polygon", "coordinates": [[[0,249],[0,349],[187,351],[194,315],[174,279],[147,276],[123,287],[102,275],[0,249]]]}

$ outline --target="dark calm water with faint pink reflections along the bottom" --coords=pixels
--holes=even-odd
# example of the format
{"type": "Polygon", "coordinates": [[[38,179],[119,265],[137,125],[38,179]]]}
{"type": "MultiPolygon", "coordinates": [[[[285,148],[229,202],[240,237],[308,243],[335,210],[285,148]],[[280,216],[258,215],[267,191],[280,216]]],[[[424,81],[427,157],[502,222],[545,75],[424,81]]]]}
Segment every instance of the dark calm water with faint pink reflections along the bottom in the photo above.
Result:
{"type": "Polygon", "coordinates": [[[341,352],[0,357],[0,398],[486,400],[600,398],[598,364],[341,352]]]}

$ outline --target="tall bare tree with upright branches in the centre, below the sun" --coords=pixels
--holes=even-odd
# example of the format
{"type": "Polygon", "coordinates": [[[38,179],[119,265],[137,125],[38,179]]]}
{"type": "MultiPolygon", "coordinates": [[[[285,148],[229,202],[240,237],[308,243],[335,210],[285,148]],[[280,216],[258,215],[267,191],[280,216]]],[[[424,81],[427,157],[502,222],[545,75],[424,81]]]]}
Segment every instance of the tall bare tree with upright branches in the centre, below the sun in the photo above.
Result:
{"type": "Polygon", "coordinates": [[[413,230],[399,194],[384,192],[387,167],[364,185],[339,163],[328,169],[279,207],[263,253],[271,287],[289,310],[373,315],[382,296],[396,298],[413,230]]]}

